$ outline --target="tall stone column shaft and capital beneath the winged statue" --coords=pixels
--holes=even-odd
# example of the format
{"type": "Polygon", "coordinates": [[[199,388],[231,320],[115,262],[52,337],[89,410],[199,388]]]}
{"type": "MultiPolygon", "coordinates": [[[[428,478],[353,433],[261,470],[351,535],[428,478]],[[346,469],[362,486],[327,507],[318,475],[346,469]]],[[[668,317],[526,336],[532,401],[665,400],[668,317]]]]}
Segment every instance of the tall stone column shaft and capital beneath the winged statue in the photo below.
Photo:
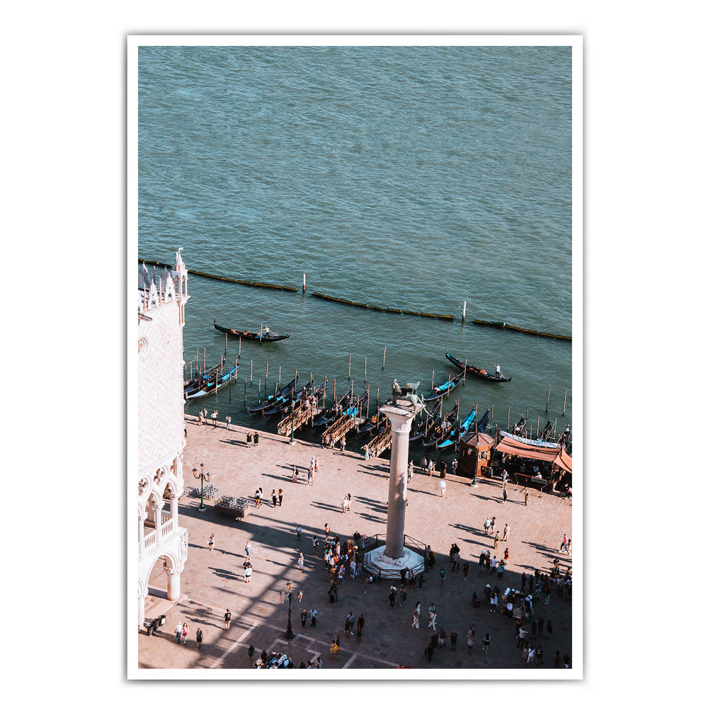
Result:
{"type": "Polygon", "coordinates": [[[416,406],[400,400],[395,406],[384,406],[381,412],[391,421],[391,469],[389,472],[389,508],[386,518],[386,550],[389,558],[404,554],[406,527],[406,489],[408,486],[408,438],[416,406]]]}

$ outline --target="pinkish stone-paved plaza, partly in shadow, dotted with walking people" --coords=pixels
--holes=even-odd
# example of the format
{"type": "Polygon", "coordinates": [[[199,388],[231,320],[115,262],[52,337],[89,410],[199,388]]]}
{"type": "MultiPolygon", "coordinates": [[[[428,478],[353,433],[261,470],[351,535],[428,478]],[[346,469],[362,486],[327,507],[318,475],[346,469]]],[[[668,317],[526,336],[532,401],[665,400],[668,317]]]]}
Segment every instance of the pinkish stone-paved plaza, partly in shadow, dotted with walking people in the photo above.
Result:
{"type": "MultiPolygon", "coordinates": [[[[409,485],[409,506],[406,534],[428,543],[436,554],[436,564],[426,573],[422,590],[407,588],[405,605],[391,608],[388,600],[389,581],[369,586],[364,592],[361,578],[347,579],[338,590],[338,602],[329,603],[328,572],[324,567],[320,544],[318,556],[312,553],[312,537],[324,538],[324,525],[331,533],[347,539],[354,532],[369,536],[386,531],[388,495],[387,459],[365,461],[354,452],[324,450],[319,445],[297,441],[291,446],[288,438],[270,433],[260,434],[258,447],[246,447],[247,428],[224,423],[198,426],[193,416],[185,416],[187,444],[184,451],[185,486],[198,486],[190,472],[204,463],[205,472],[212,475],[212,484],[228,496],[246,496],[251,500],[259,486],[263,487],[264,503],[251,508],[243,520],[217,515],[211,501],[200,513],[198,499],[185,498],[180,503],[180,525],[189,530],[189,556],[181,576],[181,600],[174,604],[166,598],[166,576],[161,564],[156,564],[150,580],[151,594],[146,599],[145,617],[167,616],[166,624],[156,636],[138,634],[139,668],[249,668],[246,653],[249,644],[262,649],[285,651],[299,666],[321,656],[323,668],[525,668],[521,651],[516,649],[514,620],[492,613],[484,603],[482,591],[486,583],[495,583],[504,590],[520,589],[522,572],[535,569],[549,572],[552,560],[559,557],[561,569],[569,567],[571,559],[559,554],[564,533],[572,537],[571,501],[550,494],[540,495],[529,490],[528,506],[523,493],[510,484],[508,501],[501,501],[498,480],[479,480],[472,487],[470,480],[447,475],[445,498],[440,496],[439,478],[421,475],[416,468],[409,485]],[[307,467],[312,455],[319,456],[319,474],[314,486],[307,486],[307,467]],[[299,479],[292,481],[292,465],[299,468],[299,479]],[[273,508],[270,492],[283,490],[282,506],[273,508]],[[352,495],[350,513],[343,514],[341,499],[352,495]],[[493,538],[485,536],[483,523],[496,516],[497,528],[510,526],[507,543],[501,542],[496,551],[493,538]],[[297,541],[295,527],[302,526],[302,540],[297,541]],[[215,534],[215,549],[210,551],[207,539],[215,534]],[[243,562],[246,541],[251,541],[253,578],[244,582],[243,562]],[[461,569],[450,572],[448,552],[457,542],[462,563],[469,561],[467,581],[461,569]],[[510,564],[503,578],[496,573],[479,574],[477,559],[482,549],[503,556],[508,547],[510,564]],[[302,550],[304,571],[297,566],[302,550]],[[438,570],[444,565],[447,581],[440,587],[438,570]],[[287,600],[280,603],[280,590],[287,580],[293,581],[292,629],[295,639],[285,640],[287,600]],[[302,590],[302,604],[295,595],[302,590]],[[472,607],[472,591],[482,597],[478,609],[472,607]],[[413,607],[421,601],[421,628],[411,627],[413,607]],[[457,630],[457,651],[436,649],[432,663],[423,655],[432,629],[428,628],[428,606],[431,601],[438,610],[438,629],[457,630]],[[301,627],[302,609],[318,611],[316,627],[309,620],[301,627]],[[224,630],[226,609],[232,612],[229,631],[224,630]],[[362,641],[344,636],[344,621],[348,612],[355,618],[362,613],[365,627],[362,641]],[[190,627],[187,646],[176,646],[173,629],[177,622],[190,627]],[[474,653],[467,653],[467,628],[476,632],[474,653]],[[194,638],[200,627],[204,636],[201,651],[194,638]],[[491,649],[485,656],[481,649],[484,634],[491,634],[491,649]],[[333,637],[341,638],[340,656],[330,657],[333,637]]],[[[415,460],[416,464],[418,459],[415,460]]],[[[449,467],[449,464],[448,464],[449,467]]],[[[399,586],[399,583],[395,583],[399,586]]],[[[539,612],[545,620],[553,620],[551,639],[535,641],[544,650],[544,668],[552,668],[556,649],[561,656],[571,653],[571,605],[568,600],[552,593],[549,605],[539,612]]],[[[572,656],[572,655],[571,655],[572,656]]],[[[531,668],[531,667],[529,667],[531,668]]],[[[540,667],[539,667],[540,668],[540,667]]]]}

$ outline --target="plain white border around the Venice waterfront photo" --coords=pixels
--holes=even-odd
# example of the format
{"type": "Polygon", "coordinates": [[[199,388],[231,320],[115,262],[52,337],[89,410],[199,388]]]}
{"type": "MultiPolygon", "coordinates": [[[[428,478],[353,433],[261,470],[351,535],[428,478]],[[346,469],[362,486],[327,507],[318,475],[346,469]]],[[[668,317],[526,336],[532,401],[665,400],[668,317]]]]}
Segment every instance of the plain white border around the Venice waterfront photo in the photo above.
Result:
{"type": "Polygon", "coordinates": [[[581,35],[128,35],[127,36],[127,260],[126,282],[135,279],[138,258],[138,50],[142,46],[569,46],[572,50],[572,253],[573,253],[573,668],[525,669],[327,669],[257,671],[246,669],[141,669],[137,667],[137,559],[135,519],[130,506],[137,479],[137,319],[133,290],[127,287],[127,474],[126,573],[127,678],[207,680],[578,680],[583,678],[583,37],[581,35]],[[133,562],[136,561],[136,562],[133,562]]]}

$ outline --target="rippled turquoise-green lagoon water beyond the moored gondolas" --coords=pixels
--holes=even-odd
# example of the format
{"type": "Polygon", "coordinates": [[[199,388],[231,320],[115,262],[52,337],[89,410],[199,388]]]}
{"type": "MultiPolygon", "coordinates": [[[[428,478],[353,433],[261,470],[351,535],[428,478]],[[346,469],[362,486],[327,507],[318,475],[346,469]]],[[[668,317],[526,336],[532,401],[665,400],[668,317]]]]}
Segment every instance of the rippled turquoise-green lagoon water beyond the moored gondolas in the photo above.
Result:
{"type": "MultiPolygon", "coordinates": [[[[189,412],[248,424],[251,359],[249,404],[266,362],[270,392],[279,366],[283,383],[297,368],[343,392],[350,355],[355,389],[367,357],[383,399],[393,377],[423,391],[433,370],[438,383],[454,375],[449,348],[513,377],[468,379],[462,414],[476,402],[503,428],[529,411],[562,430],[571,344],[469,320],[571,333],[570,47],[142,47],[139,253],[170,262],[176,246],[207,273],[294,287],[307,273],[305,296],[190,278],[185,360],[224,353],[214,319],[292,336],[244,341],[231,401],[219,393],[189,412]]],[[[230,340],[227,360],[237,353],[230,340]]]]}

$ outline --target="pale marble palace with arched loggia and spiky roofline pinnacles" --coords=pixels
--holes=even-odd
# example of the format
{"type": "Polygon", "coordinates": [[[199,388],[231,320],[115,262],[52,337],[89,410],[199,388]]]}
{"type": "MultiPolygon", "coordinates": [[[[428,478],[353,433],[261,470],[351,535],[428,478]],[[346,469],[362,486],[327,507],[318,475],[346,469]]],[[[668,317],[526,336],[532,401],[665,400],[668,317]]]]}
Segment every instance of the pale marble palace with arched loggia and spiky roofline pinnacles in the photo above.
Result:
{"type": "Polygon", "coordinates": [[[187,559],[188,534],[179,526],[178,499],[184,486],[182,329],[189,295],[187,269],[179,251],[171,273],[165,268],[159,277],[151,275],[143,264],[139,280],[136,491],[140,628],[149,593],[164,598],[166,592],[167,600],[179,599],[180,574],[187,559]]]}

